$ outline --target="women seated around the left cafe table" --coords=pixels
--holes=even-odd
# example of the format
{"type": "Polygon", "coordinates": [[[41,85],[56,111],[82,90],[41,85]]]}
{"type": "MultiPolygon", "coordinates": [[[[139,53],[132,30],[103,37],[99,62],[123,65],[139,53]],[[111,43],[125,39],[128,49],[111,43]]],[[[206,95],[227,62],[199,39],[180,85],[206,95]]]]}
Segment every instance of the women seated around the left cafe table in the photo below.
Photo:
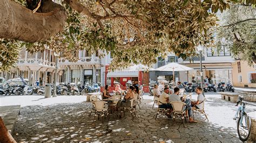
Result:
{"type": "MultiPolygon", "coordinates": [[[[109,85],[106,85],[103,92],[103,99],[111,98],[111,97],[112,96],[109,94],[109,85]]],[[[123,100],[120,99],[118,101],[117,109],[122,107],[130,107],[131,106],[130,100],[138,97],[139,97],[139,87],[137,85],[130,86],[123,100]]]]}

